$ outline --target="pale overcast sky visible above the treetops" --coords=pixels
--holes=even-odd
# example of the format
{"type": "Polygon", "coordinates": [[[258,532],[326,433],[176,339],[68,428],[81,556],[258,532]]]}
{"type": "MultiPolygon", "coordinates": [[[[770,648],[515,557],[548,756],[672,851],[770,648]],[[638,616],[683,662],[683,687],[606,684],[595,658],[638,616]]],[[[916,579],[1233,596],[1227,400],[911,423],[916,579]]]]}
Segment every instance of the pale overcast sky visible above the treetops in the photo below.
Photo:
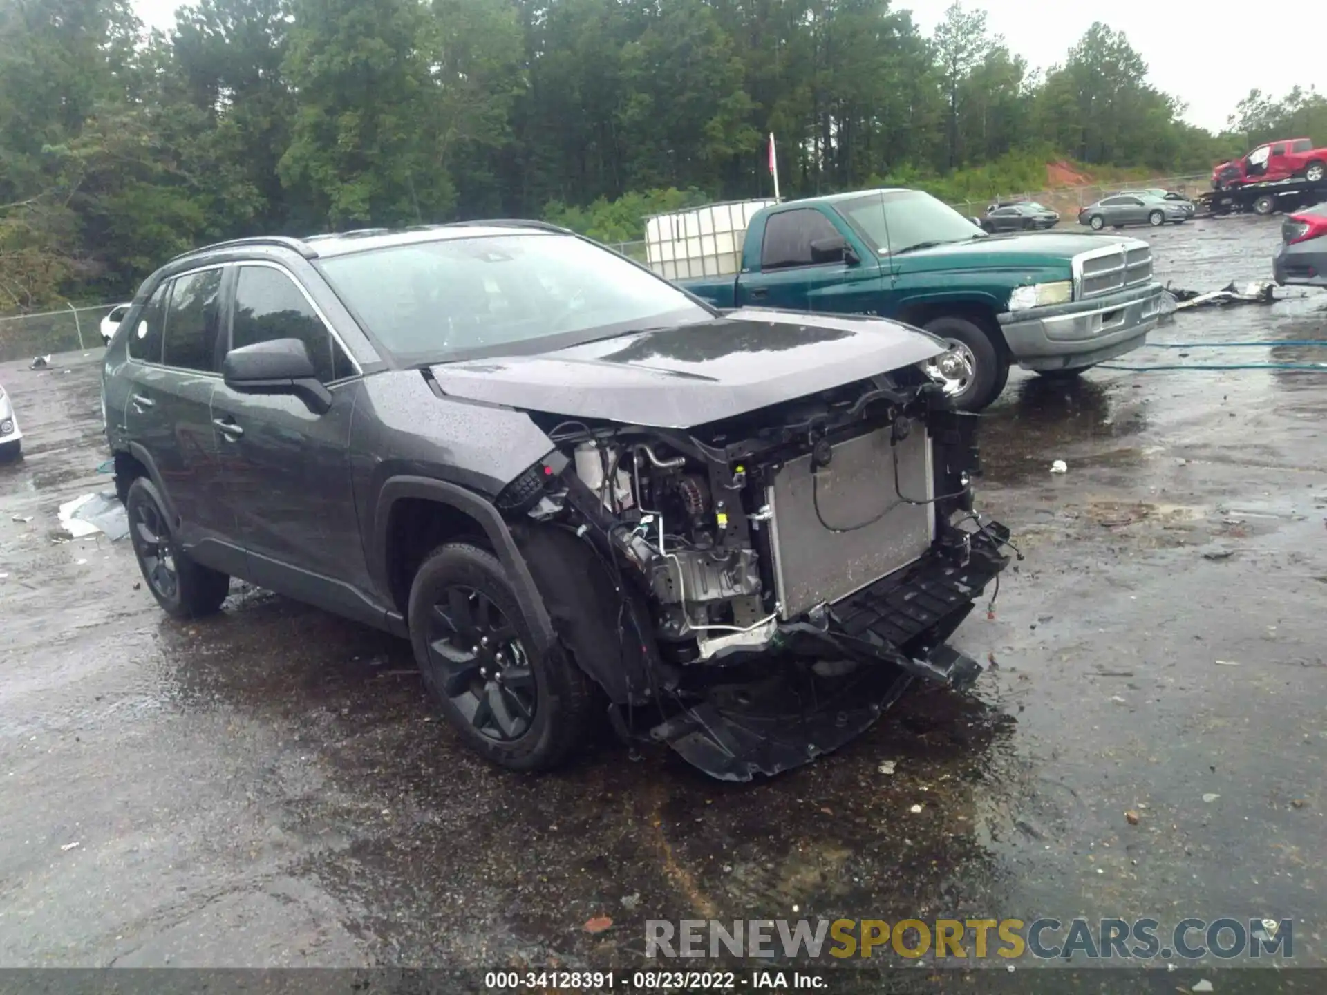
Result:
{"type": "MultiPolygon", "coordinates": [[[[894,0],[896,8],[913,11],[928,34],[950,0],[894,0]]],[[[169,29],[178,0],[135,0],[138,16],[150,27],[169,29]]],[[[987,12],[991,32],[1003,34],[1010,49],[1032,66],[1063,61],[1070,45],[1093,20],[1123,31],[1151,69],[1152,85],[1188,105],[1185,117],[1194,125],[1220,130],[1249,90],[1261,89],[1282,97],[1294,85],[1327,84],[1327,62],[1314,48],[1298,48],[1289,37],[1275,36],[1285,27],[1296,38],[1327,37],[1327,4],[1296,3],[1289,20],[1277,21],[1267,37],[1246,15],[1218,17],[1210,0],[1112,0],[1104,8],[1064,0],[986,0],[966,3],[987,12]],[[1316,54],[1315,54],[1316,53],[1316,54]]],[[[1327,141],[1327,135],[1314,135],[1327,141]]]]}

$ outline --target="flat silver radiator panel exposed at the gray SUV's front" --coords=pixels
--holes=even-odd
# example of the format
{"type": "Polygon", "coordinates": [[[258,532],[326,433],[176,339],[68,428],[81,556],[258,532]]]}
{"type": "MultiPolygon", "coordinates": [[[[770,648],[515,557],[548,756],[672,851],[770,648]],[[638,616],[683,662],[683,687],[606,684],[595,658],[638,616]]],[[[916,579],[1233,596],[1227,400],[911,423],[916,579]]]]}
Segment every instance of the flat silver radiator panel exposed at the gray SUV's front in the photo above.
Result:
{"type": "Polygon", "coordinates": [[[916,561],[936,536],[932,442],[916,426],[890,444],[889,429],[833,447],[829,464],[786,463],[766,491],[783,618],[835,604],[916,561]],[[898,480],[894,482],[894,459],[898,480]],[[840,529],[840,531],[835,531],[840,529]]]}

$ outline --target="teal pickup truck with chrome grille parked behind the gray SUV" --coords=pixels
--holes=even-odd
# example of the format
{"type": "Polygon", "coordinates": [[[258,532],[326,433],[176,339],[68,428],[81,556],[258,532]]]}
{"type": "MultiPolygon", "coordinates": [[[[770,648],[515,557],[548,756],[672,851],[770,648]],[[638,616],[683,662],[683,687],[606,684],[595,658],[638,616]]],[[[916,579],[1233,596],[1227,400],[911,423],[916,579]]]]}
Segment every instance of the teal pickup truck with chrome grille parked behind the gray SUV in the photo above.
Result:
{"type": "Polygon", "coordinates": [[[751,216],[743,239],[735,275],[675,283],[717,308],[877,314],[924,328],[950,342],[932,373],[970,411],[999,397],[1011,364],[1079,374],[1143,345],[1161,310],[1145,241],[987,235],[916,190],[774,204],[751,216]]]}

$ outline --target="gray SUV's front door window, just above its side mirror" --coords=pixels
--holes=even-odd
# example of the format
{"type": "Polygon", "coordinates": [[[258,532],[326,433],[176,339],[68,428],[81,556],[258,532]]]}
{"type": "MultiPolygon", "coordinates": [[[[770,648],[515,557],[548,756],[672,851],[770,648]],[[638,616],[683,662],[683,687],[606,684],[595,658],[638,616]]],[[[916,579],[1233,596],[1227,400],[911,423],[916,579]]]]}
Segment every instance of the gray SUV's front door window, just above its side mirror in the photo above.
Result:
{"type": "Polygon", "coordinates": [[[324,383],[354,375],[354,365],[295,280],[269,267],[242,267],[235,287],[231,349],[299,338],[324,383]]]}

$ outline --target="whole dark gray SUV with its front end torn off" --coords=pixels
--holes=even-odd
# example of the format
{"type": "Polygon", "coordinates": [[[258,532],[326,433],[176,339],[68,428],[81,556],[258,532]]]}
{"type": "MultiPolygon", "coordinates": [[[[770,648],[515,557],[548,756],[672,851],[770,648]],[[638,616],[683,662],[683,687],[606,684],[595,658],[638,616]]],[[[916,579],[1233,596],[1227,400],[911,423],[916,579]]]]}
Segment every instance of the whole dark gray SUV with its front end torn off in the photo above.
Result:
{"type": "Polygon", "coordinates": [[[407,637],[516,769],[605,716],[746,780],[836,748],[1009,563],[974,415],[877,318],[719,313],[594,243],[484,222],[212,245],[106,353],[115,482],[171,614],[231,577],[407,637]]]}

